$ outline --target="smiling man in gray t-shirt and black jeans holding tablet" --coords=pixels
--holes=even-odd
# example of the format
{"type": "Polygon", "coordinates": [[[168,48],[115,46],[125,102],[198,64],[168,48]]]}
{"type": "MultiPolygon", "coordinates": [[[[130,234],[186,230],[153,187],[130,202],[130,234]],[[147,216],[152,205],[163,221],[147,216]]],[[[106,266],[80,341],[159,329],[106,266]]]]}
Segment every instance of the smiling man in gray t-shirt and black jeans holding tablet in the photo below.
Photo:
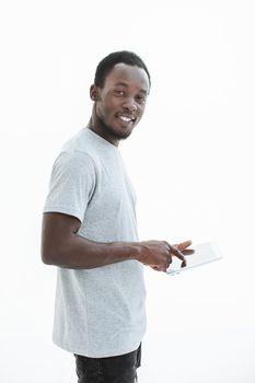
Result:
{"type": "Polygon", "coordinates": [[[190,241],[139,242],[136,196],[118,150],[142,117],[150,84],[134,53],[105,57],[90,89],[89,125],[63,146],[51,173],[42,257],[58,266],[54,343],[74,353],[79,383],[136,381],[143,265],[165,271],[172,256],[186,264],[190,241]]]}

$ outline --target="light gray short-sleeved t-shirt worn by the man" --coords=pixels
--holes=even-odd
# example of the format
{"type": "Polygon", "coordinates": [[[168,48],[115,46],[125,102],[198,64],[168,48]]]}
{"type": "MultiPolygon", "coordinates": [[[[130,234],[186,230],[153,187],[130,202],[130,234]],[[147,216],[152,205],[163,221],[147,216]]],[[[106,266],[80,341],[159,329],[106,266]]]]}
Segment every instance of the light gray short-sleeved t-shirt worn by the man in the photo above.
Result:
{"type": "MultiPolygon", "coordinates": [[[[54,163],[44,212],[81,221],[78,235],[98,242],[138,241],[136,196],[118,148],[88,128],[54,163]]],[[[54,343],[104,358],[138,348],[146,332],[143,266],[125,260],[93,269],[58,268],[54,343]]]]}

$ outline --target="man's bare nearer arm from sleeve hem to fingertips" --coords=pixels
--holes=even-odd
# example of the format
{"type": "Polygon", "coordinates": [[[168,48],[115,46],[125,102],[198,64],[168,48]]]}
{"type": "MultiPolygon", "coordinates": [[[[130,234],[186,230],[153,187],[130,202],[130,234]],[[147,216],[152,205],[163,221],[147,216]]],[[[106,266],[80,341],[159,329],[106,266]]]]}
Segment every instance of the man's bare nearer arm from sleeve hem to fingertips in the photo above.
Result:
{"type": "Polygon", "coordinates": [[[81,222],[76,217],[57,212],[44,213],[42,259],[45,264],[90,269],[137,259],[158,270],[166,270],[174,255],[185,265],[184,255],[165,241],[93,242],[76,234],[80,225],[81,222]]]}

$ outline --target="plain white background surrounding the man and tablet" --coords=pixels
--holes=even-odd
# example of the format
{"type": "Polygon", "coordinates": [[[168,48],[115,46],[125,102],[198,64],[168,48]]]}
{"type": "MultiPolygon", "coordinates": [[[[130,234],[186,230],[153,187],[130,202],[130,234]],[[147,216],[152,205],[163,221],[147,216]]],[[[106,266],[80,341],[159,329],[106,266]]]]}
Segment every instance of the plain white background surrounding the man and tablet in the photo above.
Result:
{"type": "Polygon", "coordinates": [[[146,270],[141,383],[254,383],[253,1],[5,1],[1,36],[1,326],[4,383],[76,382],[51,344],[56,269],[42,209],[61,144],[89,120],[97,62],[129,49],[152,90],[121,143],[141,240],[215,240],[224,259],[146,270]]]}

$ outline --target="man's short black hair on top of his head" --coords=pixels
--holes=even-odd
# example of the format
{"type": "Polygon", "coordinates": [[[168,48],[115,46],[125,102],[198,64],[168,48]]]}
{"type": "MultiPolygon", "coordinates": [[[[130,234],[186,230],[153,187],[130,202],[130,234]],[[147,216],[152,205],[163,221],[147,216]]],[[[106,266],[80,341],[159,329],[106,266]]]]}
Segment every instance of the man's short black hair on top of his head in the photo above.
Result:
{"type": "Polygon", "coordinates": [[[116,63],[120,63],[120,62],[127,63],[128,66],[134,66],[134,67],[136,66],[144,69],[149,78],[149,83],[151,85],[151,78],[150,78],[149,70],[147,69],[147,66],[138,55],[129,50],[114,51],[108,56],[106,56],[105,58],[103,58],[96,67],[94,85],[98,88],[103,88],[107,74],[112,71],[112,69],[114,68],[114,66],[116,66],[116,63]]]}

